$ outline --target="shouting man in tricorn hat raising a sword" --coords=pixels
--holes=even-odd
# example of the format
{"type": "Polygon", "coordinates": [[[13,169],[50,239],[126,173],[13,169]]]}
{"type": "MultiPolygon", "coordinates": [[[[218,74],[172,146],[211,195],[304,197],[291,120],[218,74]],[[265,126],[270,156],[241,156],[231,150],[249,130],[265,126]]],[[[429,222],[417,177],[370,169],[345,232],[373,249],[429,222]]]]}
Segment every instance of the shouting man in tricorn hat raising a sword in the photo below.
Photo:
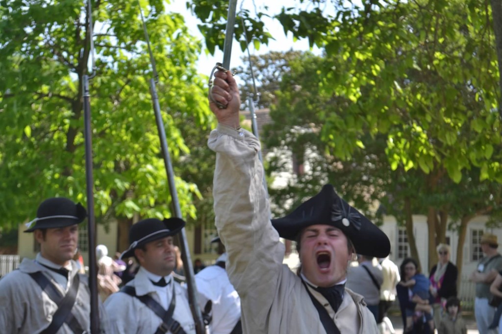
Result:
{"type": "Polygon", "coordinates": [[[354,252],[385,257],[389,239],[331,185],[271,222],[260,143],[240,128],[239,106],[235,80],[218,71],[210,94],[218,128],[208,140],[216,152],[214,210],[228,254],[226,270],[241,298],[244,332],[378,333],[363,298],[344,284],[354,252]],[[280,237],[298,242],[298,276],[282,265],[280,237]]]}

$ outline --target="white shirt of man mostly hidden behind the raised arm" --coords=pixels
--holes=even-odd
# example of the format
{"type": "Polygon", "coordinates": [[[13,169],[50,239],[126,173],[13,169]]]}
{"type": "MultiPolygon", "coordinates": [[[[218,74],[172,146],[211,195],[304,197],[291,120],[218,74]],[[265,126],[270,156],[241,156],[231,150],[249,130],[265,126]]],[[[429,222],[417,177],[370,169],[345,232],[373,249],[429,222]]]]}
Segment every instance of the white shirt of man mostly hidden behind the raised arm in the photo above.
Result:
{"type": "MultiPolygon", "coordinates": [[[[225,260],[226,253],[223,253],[216,262],[225,260]]],[[[200,308],[204,310],[207,301],[212,302],[211,334],[228,334],[240,319],[240,298],[225,269],[208,266],[195,275],[195,284],[200,308]]]]}

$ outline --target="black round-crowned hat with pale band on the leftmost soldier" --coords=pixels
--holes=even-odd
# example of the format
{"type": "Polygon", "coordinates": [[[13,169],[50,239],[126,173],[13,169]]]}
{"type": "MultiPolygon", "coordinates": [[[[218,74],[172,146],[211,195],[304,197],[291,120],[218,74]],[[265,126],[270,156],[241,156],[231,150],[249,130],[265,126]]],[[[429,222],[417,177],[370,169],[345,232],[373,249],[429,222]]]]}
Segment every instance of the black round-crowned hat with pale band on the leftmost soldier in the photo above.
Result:
{"type": "Polygon", "coordinates": [[[87,211],[80,203],[64,197],[49,198],[40,204],[37,218],[26,224],[25,232],[71,226],[83,222],[85,217],[87,211]]]}

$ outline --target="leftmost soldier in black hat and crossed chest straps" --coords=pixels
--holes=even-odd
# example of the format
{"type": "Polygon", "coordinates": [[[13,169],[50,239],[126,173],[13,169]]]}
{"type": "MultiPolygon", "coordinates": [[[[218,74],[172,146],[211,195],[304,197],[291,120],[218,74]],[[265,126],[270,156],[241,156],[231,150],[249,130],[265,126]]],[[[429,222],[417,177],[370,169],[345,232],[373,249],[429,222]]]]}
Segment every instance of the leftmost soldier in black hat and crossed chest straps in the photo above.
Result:
{"type": "MultiPolygon", "coordinates": [[[[35,260],[23,259],[19,270],[0,280],[0,331],[70,334],[90,330],[88,277],[72,260],[78,243],[78,224],[85,208],[66,198],[40,204],[37,218],[28,223],[40,243],[35,260]]],[[[99,303],[100,331],[108,322],[99,303]]]]}

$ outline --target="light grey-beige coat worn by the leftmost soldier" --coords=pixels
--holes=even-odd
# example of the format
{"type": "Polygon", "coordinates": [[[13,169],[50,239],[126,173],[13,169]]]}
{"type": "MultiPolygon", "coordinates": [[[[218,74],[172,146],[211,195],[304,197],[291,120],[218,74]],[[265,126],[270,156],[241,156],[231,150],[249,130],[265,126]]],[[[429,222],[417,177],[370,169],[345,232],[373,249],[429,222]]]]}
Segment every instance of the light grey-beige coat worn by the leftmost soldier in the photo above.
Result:
{"type": "MultiPolygon", "coordinates": [[[[71,280],[78,273],[72,260],[71,280]]],[[[28,273],[41,271],[53,281],[50,271],[35,262],[24,259],[19,270],[0,279],[0,332],[9,334],[37,334],[49,326],[56,312],[54,303],[28,273]]],[[[61,294],[61,286],[54,284],[61,294]]],[[[69,285],[69,284],[68,284],[69,285]]],[[[80,276],[80,285],[72,313],[83,328],[90,330],[90,291],[87,276],[80,276]]],[[[99,303],[99,320],[102,332],[108,332],[108,322],[102,304],[99,303]]],[[[58,334],[73,334],[63,323],[58,334]]]]}

